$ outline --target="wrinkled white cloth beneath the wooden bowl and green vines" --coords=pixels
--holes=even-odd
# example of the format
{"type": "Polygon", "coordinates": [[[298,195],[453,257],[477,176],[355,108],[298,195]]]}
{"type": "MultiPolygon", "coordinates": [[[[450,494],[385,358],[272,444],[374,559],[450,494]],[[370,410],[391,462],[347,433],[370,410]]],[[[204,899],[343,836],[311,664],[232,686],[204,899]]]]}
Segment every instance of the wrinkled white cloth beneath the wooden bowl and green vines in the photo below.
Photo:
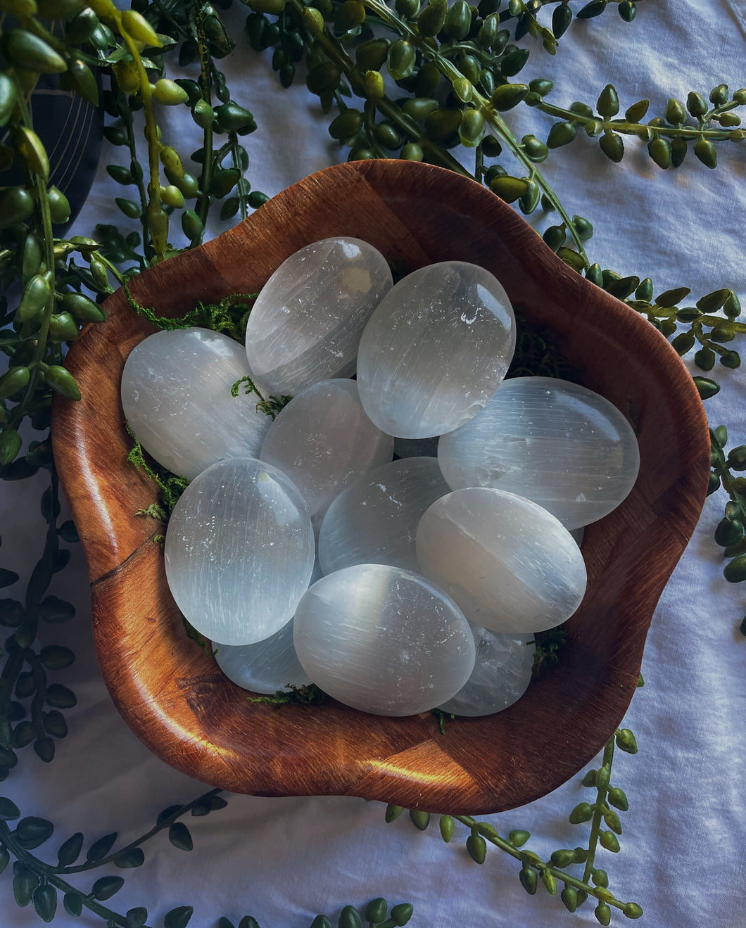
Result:
{"type": "MultiPolygon", "coordinates": [[[[241,10],[229,16],[242,17],[241,10]]],[[[559,54],[532,53],[521,80],[553,78],[551,99],[593,103],[607,83],[619,91],[624,110],[650,97],[649,117],[662,112],[668,97],[686,99],[688,90],[705,97],[711,87],[746,85],[742,4],[733,0],[645,0],[635,22],[625,24],[613,9],[599,19],[572,24],[559,54]]],[[[269,195],[305,174],[344,157],[329,140],[327,121],[302,82],[282,92],[268,55],[224,61],[238,102],[252,110],[259,130],[246,139],[254,188],[269,195]]],[[[523,132],[548,129],[535,110],[508,114],[523,132]]],[[[177,148],[191,149],[174,126],[177,148]]],[[[166,135],[164,133],[164,135],[166,135]]],[[[193,148],[196,148],[196,144],[193,148]]],[[[660,171],[644,151],[615,165],[585,137],[559,149],[544,171],[569,212],[589,218],[596,235],[589,253],[602,267],[623,275],[650,274],[655,290],[687,285],[693,297],[728,286],[746,297],[743,218],[746,215],[742,146],[719,148],[721,167],[709,171],[688,156],[678,171],[660,171]]],[[[109,154],[109,160],[116,155],[109,154]]],[[[96,222],[120,222],[111,199],[122,188],[103,170],[74,232],[90,234],[96,222]]],[[[212,234],[223,229],[213,227],[212,234]]],[[[713,424],[725,421],[734,444],[746,443],[746,379],[742,370],[718,369],[723,391],[708,401],[713,424]]],[[[0,484],[3,564],[31,564],[41,546],[38,496],[42,483],[0,484]]],[[[639,902],[655,928],[726,928],[743,923],[741,893],[746,849],[744,799],[744,717],[746,638],[738,632],[746,612],[746,589],[722,578],[714,525],[721,518],[721,495],[708,499],[701,524],[667,586],[656,612],[643,664],[647,686],[638,691],[627,717],[637,734],[639,754],[617,754],[614,780],[623,786],[630,811],[622,816],[622,852],[599,852],[598,865],[611,874],[617,896],[639,902]]],[[[74,566],[59,575],[55,592],[72,599],[78,615],[61,631],[47,626],[45,641],[71,632],[78,659],[67,677],[78,696],[68,712],[71,734],[58,742],[58,757],[41,764],[30,750],[0,794],[12,798],[23,815],[55,822],[46,852],[54,861],[58,844],[72,831],[87,841],[119,831],[122,842],[147,831],[164,806],[185,802],[204,788],[149,754],[116,713],[98,674],[89,635],[87,580],[79,550],[74,566]]],[[[572,732],[568,733],[572,737],[572,732]]],[[[546,798],[494,817],[503,833],[533,832],[530,846],[548,854],[582,844],[585,827],[572,827],[567,814],[587,799],[579,778],[546,798]]],[[[462,842],[444,845],[431,826],[419,832],[404,816],[383,824],[384,807],[339,797],[264,799],[232,796],[228,807],[208,818],[187,818],[195,839],[191,854],[172,847],[161,834],[146,847],[147,865],[119,871],[124,888],[110,900],[119,911],[146,905],[148,923],[161,923],[175,905],[191,904],[191,924],[212,928],[221,914],[233,922],[251,913],[262,928],[306,928],[319,911],[336,922],[347,903],[364,905],[374,896],[391,904],[410,901],[415,928],[464,925],[525,925],[554,928],[559,923],[595,924],[592,906],[575,916],[559,898],[540,887],[525,894],[518,868],[497,850],[482,867],[462,842]]],[[[463,835],[465,837],[465,835],[463,835]]],[[[44,848],[40,849],[40,853],[44,848]]],[[[78,885],[87,891],[96,872],[78,885]]],[[[0,878],[0,925],[38,924],[12,898],[10,871],[0,878]]],[[[614,912],[614,922],[623,919],[614,912]]],[[[58,909],[56,924],[97,925],[91,916],[73,919],[58,909]]]]}

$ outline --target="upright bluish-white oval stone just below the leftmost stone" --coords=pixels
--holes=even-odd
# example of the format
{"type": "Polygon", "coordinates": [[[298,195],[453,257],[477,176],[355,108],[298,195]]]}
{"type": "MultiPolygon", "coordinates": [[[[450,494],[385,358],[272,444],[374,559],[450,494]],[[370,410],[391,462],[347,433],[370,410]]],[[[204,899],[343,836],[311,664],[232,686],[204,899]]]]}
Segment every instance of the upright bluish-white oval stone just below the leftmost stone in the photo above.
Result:
{"type": "Polygon", "coordinates": [[[314,554],[311,518],[289,477],[264,461],[228,458],[195,477],[174,507],[166,580],[202,635],[251,644],[292,618],[314,554]]]}

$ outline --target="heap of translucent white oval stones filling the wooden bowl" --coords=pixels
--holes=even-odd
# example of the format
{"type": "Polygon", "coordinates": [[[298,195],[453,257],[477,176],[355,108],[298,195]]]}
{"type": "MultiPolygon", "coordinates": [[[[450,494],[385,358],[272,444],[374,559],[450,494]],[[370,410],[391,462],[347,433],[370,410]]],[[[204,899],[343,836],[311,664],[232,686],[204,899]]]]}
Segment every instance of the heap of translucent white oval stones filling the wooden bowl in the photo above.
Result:
{"type": "Polygon", "coordinates": [[[223,338],[141,342],[122,403],[155,458],[172,466],[174,445],[188,458],[166,575],[227,676],[264,692],[311,680],[379,715],[485,715],[520,698],[533,634],[583,599],[569,529],[635,482],[626,419],[565,381],[501,385],[515,318],[484,268],[432,264],[392,286],[354,238],[278,268],[249,318],[248,362],[223,338]],[[247,376],[295,393],[265,429],[231,395],[247,376]],[[392,461],[394,437],[438,436],[438,458],[392,461]]]}

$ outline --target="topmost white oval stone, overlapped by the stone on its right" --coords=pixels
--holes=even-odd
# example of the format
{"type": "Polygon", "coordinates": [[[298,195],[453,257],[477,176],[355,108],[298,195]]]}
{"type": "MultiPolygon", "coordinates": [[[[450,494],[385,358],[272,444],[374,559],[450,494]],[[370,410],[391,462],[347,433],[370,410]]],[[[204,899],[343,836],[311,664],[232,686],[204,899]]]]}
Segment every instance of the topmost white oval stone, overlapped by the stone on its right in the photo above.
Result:
{"type": "Polygon", "coordinates": [[[392,282],[386,259],[359,238],[324,238],[291,254],[251,309],[251,369],[271,393],[351,377],[360,335],[392,282]]]}

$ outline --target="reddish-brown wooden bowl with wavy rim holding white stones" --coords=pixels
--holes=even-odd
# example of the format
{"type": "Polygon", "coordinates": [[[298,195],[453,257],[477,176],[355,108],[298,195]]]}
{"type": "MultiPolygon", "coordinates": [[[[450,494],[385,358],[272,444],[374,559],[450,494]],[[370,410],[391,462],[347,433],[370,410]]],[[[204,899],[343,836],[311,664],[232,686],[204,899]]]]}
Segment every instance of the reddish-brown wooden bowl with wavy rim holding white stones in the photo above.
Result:
{"type": "Polygon", "coordinates": [[[74,342],[83,400],[58,402],[55,455],[91,577],[98,660],[127,724],[173,767],[237,793],[341,794],[483,814],[531,802],[570,778],[619,725],[637,684],[662,588],[701,511],[709,439],[686,368],[650,323],[588,283],[480,185],[407,161],[358,161],[306,177],[196,251],[132,282],[138,303],[182,315],[196,301],[260,290],[319,238],[364,238],[406,271],[449,259],[492,271],[525,316],[556,333],[585,385],[635,427],[641,468],[624,504],[590,525],[587,593],[559,665],[508,710],[438,731],[337,702],[281,709],[247,701],[189,640],[166,586],[161,531],[135,510],[154,488],[125,460],[120,376],[154,329],[122,291],[74,342]]]}

